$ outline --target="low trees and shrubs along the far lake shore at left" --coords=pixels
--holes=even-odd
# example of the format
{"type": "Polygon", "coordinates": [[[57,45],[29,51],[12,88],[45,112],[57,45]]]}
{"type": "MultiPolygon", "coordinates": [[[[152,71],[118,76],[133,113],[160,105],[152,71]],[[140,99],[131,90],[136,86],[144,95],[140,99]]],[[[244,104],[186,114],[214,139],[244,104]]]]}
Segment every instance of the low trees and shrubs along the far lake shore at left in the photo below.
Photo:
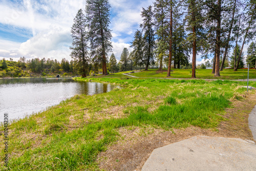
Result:
{"type": "MultiPolygon", "coordinates": [[[[40,73],[43,76],[51,73],[63,73],[69,72],[76,74],[75,62],[73,60],[68,61],[63,58],[61,62],[56,59],[47,60],[45,58],[33,58],[26,60],[25,57],[20,57],[19,60],[13,61],[12,59],[6,60],[5,58],[0,60],[0,77],[22,77],[30,76],[30,73],[40,73]]],[[[91,67],[92,68],[92,67],[91,67]]]]}

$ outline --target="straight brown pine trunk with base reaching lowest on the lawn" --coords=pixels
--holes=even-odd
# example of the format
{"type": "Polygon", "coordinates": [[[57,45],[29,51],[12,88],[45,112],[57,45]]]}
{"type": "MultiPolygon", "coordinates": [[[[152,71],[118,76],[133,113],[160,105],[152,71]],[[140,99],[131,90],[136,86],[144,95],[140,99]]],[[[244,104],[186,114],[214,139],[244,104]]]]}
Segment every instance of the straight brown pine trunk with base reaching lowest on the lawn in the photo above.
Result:
{"type": "Polygon", "coordinates": [[[192,20],[193,20],[193,57],[192,57],[192,76],[191,78],[196,78],[196,61],[197,61],[197,35],[196,35],[196,14],[195,14],[195,2],[191,1],[191,6],[192,6],[192,20]]]}

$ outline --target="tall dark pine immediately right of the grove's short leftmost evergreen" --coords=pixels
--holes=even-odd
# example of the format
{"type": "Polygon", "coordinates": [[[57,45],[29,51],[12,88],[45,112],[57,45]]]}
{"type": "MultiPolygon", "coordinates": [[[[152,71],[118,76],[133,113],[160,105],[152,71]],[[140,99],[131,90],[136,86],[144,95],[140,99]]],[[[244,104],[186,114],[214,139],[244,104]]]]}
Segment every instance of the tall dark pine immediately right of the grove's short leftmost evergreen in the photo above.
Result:
{"type": "Polygon", "coordinates": [[[144,31],[144,61],[145,61],[145,71],[148,69],[150,63],[154,63],[154,47],[155,47],[155,33],[153,30],[153,11],[152,6],[148,6],[145,10],[142,8],[141,12],[143,23],[140,25],[142,30],[144,31]]]}

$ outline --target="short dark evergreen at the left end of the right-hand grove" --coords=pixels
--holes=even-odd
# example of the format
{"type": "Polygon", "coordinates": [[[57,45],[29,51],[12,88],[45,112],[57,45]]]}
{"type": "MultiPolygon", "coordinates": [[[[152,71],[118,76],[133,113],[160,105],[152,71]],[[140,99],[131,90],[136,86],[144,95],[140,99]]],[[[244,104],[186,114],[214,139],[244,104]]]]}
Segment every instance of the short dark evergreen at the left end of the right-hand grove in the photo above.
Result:
{"type": "Polygon", "coordinates": [[[135,32],[134,40],[132,42],[131,47],[134,48],[134,50],[131,52],[134,65],[141,67],[144,63],[144,58],[143,58],[144,39],[142,37],[142,32],[140,30],[137,30],[135,32]]]}

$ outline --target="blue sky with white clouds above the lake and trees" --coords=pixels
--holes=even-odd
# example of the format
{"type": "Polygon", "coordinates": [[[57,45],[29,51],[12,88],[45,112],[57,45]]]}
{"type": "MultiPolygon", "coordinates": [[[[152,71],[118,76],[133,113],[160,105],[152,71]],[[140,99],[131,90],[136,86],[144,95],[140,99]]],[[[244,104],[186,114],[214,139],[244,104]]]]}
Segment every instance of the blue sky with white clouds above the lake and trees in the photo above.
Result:
{"type": "MultiPolygon", "coordinates": [[[[119,60],[123,48],[130,48],[134,32],[142,22],[141,10],[154,0],[109,0],[113,53],[119,60]]],[[[85,0],[0,1],[0,59],[53,58],[71,60],[71,27],[85,0]]],[[[246,47],[245,47],[246,48],[246,47]]],[[[111,55],[111,52],[108,54],[111,55]]],[[[197,57],[198,62],[202,60],[197,57]]]]}

